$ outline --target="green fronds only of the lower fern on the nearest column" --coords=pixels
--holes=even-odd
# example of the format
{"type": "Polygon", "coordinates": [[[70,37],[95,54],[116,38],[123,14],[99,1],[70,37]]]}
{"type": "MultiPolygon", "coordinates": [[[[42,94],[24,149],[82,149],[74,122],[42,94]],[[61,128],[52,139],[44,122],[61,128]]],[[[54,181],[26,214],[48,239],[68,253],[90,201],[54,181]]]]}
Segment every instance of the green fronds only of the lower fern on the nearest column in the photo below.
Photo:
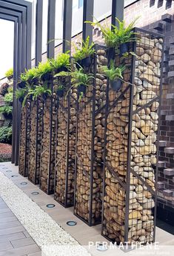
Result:
{"type": "Polygon", "coordinates": [[[116,80],[118,78],[123,79],[122,73],[125,69],[126,68],[124,65],[121,65],[116,68],[113,60],[110,61],[110,68],[108,68],[107,65],[103,67],[105,76],[108,77],[111,81],[116,80]]]}

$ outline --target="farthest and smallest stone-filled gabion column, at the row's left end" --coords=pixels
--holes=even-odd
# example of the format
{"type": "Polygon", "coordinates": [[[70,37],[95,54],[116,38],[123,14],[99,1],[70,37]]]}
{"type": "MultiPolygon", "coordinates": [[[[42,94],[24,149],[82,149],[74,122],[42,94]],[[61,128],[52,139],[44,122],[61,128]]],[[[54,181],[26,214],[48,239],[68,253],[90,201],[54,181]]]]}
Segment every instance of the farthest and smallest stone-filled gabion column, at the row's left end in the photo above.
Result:
{"type": "Polygon", "coordinates": [[[21,108],[21,132],[19,143],[19,174],[28,176],[28,158],[30,144],[30,100],[21,108]]]}

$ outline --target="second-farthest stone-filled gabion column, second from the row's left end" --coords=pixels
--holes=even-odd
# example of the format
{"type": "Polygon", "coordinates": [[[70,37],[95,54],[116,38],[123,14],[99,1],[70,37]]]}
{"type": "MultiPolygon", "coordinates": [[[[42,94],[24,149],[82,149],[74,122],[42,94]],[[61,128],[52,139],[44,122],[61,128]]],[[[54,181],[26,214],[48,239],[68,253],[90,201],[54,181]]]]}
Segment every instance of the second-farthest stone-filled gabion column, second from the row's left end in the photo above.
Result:
{"type": "Polygon", "coordinates": [[[41,132],[43,119],[43,103],[41,99],[31,102],[30,110],[30,149],[28,164],[28,179],[39,184],[41,162],[41,132]]]}

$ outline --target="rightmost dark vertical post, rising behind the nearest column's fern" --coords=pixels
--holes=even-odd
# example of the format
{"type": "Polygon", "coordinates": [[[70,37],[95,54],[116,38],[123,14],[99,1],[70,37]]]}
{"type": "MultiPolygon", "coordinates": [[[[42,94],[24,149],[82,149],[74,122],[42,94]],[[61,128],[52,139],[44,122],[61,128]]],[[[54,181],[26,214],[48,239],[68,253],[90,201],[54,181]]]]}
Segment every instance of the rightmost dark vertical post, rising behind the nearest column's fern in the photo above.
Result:
{"type": "MultiPolygon", "coordinates": [[[[116,21],[116,17],[121,21],[124,19],[124,0],[112,1],[112,14],[111,14],[112,25],[118,25],[118,22],[116,21]]],[[[111,29],[113,29],[112,26],[111,26],[111,29]]]]}

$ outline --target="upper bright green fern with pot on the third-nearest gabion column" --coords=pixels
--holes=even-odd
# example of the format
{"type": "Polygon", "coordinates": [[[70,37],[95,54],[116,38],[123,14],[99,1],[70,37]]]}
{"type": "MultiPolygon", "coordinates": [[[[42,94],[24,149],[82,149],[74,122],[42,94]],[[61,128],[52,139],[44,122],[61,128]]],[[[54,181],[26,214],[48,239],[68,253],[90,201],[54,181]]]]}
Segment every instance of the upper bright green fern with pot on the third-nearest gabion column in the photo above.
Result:
{"type": "Polygon", "coordinates": [[[61,71],[67,71],[67,68],[70,67],[70,54],[69,51],[63,54],[58,54],[56,59],[50,60],[50,65],[53,67],[56,73],[61,71]]]}

